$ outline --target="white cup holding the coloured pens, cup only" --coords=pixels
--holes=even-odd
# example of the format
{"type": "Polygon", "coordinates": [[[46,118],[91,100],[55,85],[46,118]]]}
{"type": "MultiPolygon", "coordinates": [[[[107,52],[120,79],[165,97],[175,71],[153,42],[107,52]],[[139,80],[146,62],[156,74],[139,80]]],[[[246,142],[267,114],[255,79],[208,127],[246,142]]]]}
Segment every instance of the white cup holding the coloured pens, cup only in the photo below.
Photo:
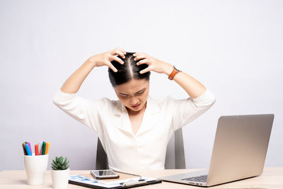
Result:
{"type": "Polygon", "coordinates": [[[45,171],[47,170],[48,155],[23,156],[25,173],[28,177],[28,185],[41,185],[44,182],[45,171]]]}

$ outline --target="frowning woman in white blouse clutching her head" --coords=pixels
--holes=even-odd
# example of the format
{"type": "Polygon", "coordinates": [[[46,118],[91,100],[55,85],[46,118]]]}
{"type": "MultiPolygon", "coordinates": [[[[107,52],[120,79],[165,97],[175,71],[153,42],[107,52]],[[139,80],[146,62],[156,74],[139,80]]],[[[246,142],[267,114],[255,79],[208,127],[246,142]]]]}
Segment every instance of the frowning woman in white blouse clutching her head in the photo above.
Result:
{"type": "MultiPolygon", "coordinates": [[[[98,86],[97,90],[99,90],[98,86]]],[[[72,118],[94,130],[108,165],[120,169],[164,169],[166,147],[175,130],[187,125],[215,102],[212,92],[199,81],[144,52],[120,47],[93,55],[69,76],[53,102],[72,118]],[[107,66],[119,101],[86,99],[77,91],[96,67],[107,66]],[[150,71],[166,74],[188,94],[186,99],[149,96],[150,71]]]]}

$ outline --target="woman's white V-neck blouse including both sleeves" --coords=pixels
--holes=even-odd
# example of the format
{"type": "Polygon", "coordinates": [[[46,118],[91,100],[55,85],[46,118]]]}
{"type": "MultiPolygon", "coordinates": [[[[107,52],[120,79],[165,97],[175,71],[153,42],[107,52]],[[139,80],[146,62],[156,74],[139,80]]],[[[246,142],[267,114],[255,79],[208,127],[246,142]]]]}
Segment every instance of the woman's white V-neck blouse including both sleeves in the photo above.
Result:
{"type": "Polygon", "coordinates": [[[141,126],[132,132],[129,115],[121,101],[87,99],[60,89],[53,103],[72,118],[94,130],[108,155],[108,166],[120,169],[164,169],[171,135],[202,115],[215,102],[208,89],[197,98],[162,101],[148,97],[141,126]]]}

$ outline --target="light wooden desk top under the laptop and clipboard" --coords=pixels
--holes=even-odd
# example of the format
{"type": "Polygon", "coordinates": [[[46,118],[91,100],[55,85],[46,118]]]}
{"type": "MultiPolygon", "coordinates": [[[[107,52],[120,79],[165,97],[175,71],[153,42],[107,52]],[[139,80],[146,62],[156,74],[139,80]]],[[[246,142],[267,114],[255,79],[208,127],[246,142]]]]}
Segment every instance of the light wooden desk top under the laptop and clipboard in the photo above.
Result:
{"type": "MultiPolygon", "coordinates": [[[[154,170],[154,171],[129,171],[129,173],[141,174],[141,176],[148,177],[161,177],[161,176],[169,176],[177,173],[186,173],[189,171],[195,171],[197,169],[166,169],[166,170],[154,170]]],[[[70,171],[70,174],[84,174],[89,173],[89,171],[70,171]]],[[[8,188],[52,188],[51,181],[51,172],[47,171],[45,174],[45,183],[43,185],[28,185],[27,178],[25,175],[25,171],[1,171],[0,172],[0,188],[8,189],[8,188]]],[[[85,188],[79,185],[71,185],[69,184],[68,188],[85,188]]],[[[162,183],[156,185],[146,185],[139,188],[170,188],[170,189],[178,189],[178,188],[195,188],[202,189],[201,187],[192,186],[192,185],[183,185],[178,183],[168,183],[163,181],[162,183]]],[[[254,178],[248,178],[242,181],[236,181],[233,183],[227,183],[223,185],[216,185],[211,188],[256,188],[256,189],[264,189],[264,188],[283,188],[283,167],[270,167],[265,168],[262,175],[254,178]]],[[[86,189],[86,188],[85,188],[86,189]]]]}

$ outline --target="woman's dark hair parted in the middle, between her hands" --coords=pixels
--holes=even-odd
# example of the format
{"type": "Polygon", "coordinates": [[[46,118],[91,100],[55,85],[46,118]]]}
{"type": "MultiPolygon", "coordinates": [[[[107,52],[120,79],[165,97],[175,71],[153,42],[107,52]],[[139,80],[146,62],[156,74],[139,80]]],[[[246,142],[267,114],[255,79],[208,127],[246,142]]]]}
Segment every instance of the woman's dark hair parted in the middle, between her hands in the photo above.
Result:
{"type": "Polygon", "coordinates": [[[141,59],[135,61],[133,56],[134,52],[126,53],[125,59],[120,57],[120,55],[117,56],[124,61],[124,64],[120,64],[115,60],[111,61],[111,64],[113,64],[113,66],[117,69],[117,72],[114,72],[112,69],[108,68],[109,79],[113,87],[120,84],[125,84],[132,79],[146,79],[146,81],[149,81],[149,75],[151,74],[150,71],[144,74],[139,73],[139,71],[146,69],[149,66],[147,64],[140,64],[138,66],[137,62],[139,62],[141,59]]]}

